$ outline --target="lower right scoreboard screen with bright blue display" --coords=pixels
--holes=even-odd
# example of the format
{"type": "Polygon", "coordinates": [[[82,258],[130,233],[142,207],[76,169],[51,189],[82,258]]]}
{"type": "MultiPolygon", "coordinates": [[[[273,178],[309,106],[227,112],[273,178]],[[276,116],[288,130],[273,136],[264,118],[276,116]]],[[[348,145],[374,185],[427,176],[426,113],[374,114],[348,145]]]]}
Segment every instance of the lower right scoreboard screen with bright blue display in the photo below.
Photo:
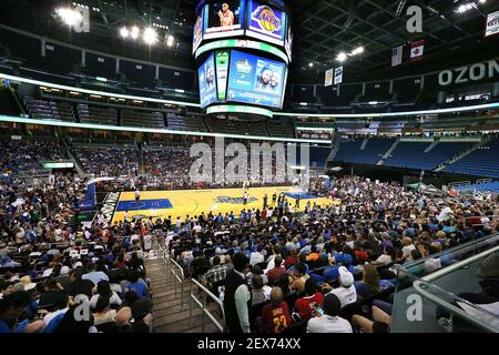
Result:
{"type": "Polygon", "coordinates": [[[233,50],[227,101],[282,108],[286,74],[284,63],[233,50]]]}

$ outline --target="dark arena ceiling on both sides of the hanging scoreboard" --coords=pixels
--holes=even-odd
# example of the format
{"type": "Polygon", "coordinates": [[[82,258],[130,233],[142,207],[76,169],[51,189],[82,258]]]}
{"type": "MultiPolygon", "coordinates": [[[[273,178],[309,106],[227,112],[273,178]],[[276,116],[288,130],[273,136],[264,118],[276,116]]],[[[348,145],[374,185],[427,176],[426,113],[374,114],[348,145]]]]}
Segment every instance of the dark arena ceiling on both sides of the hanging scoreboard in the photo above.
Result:
{"type": "MultiPolygon", "coordinates": [[[[499,55],[499,36],[485,39],[488,13],[499,10],[499,0],[486,0],[465,13],[460,4],[471,0],[287,0],[293,14],[294,62],[292,82],[320,82],[324,71],[339,63],[336,55],[361,45],[364,53],[344,63],[348,80],[398,77],[438,70],[441,65],[469,63],[499,55]],[[422,9],[422,33],[406,29],[406,9],[417,4],[422,9]],[[391,69],[391,49],[424,39],[426,57],[421,63],[408,63],[391,69]],[[312,63],[312,67],[310,67],[312,63]]],[[[99,47],[125,55],[143,48],[123,48],[118,29],[124,24],[160,23],[161,39],[175,38],[175,45],[164,45],[147,53],[152,59],[170,64],[192,67],[192,26],[197,0],[79,0],[75,2],[99,8],[91,11],[91,34],[71,36],[61,31],[54,18],[58,0],[2,0],[0,22],[47,37],[65,37],[75,44],[99,47]]],[[[407,54],[406,54],[407,57],[407,54]]]]}

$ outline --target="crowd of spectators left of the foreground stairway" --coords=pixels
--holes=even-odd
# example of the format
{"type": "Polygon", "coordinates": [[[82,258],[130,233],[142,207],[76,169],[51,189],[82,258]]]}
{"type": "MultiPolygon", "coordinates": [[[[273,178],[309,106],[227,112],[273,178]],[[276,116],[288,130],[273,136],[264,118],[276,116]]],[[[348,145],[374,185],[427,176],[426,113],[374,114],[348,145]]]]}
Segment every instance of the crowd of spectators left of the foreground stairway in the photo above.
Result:
{"type": "Polygon", "coordinates": [[[150,333],[144,256],[155,227],[74,222],[84,183],[0,182],[0,333],[150,333]]]}

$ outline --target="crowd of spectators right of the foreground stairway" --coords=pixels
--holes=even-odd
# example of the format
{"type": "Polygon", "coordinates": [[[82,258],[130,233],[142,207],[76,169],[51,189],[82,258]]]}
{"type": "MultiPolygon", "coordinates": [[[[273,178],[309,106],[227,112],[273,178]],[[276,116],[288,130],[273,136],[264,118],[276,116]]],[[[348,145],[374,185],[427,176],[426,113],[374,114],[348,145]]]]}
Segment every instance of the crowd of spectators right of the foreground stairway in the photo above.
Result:
{"type": "Polygon", "coordinates": [[[230,332],[389,332],[400,266],[432,273],[451,262],[439,252],[498,229],[492,195],[441,199],[358,176],[333,195],[343,203],[301,215],[177,220],[166,243],[224,302],[230,332]]]}

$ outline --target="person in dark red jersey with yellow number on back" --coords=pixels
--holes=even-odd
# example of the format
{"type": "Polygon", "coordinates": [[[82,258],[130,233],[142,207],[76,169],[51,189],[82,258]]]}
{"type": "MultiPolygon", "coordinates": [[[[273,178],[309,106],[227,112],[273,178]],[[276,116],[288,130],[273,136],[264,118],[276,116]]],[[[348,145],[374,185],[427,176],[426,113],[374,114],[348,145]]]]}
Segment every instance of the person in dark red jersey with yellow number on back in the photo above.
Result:
{"type": "Polygon", "coordinates": [[[272,288],[271,303],[262,310],[262,326],[265,333],[282,333],[292,324],[289,308],[283,298],[281,287],[272,288]]]}

